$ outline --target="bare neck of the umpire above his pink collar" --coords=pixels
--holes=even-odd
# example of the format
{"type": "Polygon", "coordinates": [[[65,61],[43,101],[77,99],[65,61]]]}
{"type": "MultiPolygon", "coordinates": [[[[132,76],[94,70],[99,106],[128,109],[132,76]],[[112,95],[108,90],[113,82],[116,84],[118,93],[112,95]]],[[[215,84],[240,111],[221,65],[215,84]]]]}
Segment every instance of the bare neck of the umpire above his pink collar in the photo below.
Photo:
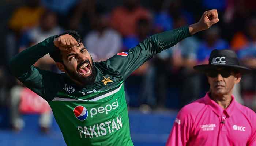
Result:
{"type": "Polygon", "coordinates": [[[215,101],[222,108],[227,108],[232,101],[232,92],[227,95],[216,95],[212,92],[209,94],[210,98],[215,101]]]}

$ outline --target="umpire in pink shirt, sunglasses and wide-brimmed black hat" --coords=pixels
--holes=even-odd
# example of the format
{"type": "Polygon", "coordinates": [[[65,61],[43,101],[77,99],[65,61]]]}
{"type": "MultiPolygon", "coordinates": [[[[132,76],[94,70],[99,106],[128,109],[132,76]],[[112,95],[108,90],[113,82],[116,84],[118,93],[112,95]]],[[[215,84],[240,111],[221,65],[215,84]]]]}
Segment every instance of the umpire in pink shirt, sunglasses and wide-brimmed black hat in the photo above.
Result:
{"type": "Polygon", "coordinates": [[[232,95],[251,69],[226,49],[213,50],[209,63],[194,69],[206,74],[209,92],[180,110],[166,146],[256,146],[256,113],[232,95]]]}

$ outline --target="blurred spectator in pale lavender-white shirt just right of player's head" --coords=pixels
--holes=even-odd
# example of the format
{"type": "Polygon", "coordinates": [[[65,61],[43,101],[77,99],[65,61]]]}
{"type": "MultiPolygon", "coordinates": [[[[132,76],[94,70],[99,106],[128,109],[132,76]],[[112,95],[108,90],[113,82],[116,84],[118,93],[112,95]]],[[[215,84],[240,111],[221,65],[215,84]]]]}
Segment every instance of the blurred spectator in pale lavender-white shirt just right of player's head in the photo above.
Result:
{"type": "Polygon", "coordinates": [[[105,61],[121,50],[121,36],[109,28],[108,14],[101,6],[98,6],[92,23],[94,30],[85,37],[84,45],[89,49],[94,61],[105,61]]]}

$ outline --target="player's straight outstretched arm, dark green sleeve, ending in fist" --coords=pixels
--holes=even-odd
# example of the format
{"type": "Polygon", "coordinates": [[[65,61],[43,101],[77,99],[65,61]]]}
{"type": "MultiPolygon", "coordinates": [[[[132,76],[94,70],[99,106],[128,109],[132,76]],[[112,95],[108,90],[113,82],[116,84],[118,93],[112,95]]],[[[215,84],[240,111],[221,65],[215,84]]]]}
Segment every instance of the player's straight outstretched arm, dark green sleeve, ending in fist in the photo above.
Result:
{"type": "Polygon", "coordinates": [[[151,35],[136,47],[129,49],[125,54],[114,55],[103,65],[120,73],[123,78],[127,78],[134,70],[139,68],[144,62],[151,59],[155,54],[174,46],[182,39],[195,34],[196,32],[206,30],[219,21],[217,10],[204,12],[199,22],[190,26],[181,27],[175,30],[151,35]]]}

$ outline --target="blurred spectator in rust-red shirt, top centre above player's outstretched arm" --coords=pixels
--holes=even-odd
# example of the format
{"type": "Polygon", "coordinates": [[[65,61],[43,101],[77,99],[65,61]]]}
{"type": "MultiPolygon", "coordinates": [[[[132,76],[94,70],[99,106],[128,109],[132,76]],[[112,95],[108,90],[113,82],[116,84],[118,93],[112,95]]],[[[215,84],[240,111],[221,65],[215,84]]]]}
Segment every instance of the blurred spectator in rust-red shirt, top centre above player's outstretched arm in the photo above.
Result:
{"type": "Polygon", "coordinates": [[[140,0],[124,0],[124,5],[112,12],[111,26],[124,37],[136,35],[136,24],[140,18],[151,18],[150,12],[139,3],[140,0]]]}

